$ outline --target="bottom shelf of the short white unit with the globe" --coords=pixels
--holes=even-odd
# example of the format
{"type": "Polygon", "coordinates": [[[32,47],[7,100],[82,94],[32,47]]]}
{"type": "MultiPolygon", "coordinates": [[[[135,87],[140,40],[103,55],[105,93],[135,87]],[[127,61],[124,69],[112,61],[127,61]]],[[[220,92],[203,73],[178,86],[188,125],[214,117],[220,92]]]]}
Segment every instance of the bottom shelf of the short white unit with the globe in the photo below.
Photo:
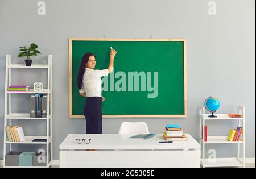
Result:
{"type": "MultiPolygon", "coordinates": [[[[203,166],[203,160],[201,159],[201,165],[203,166]]],[[[243,164],[236,158],[217,158],[217,159],[205,159],[204,167],[242,167],[243,164]],[[215,161],[212,161],[215,160],[215,161]]]]}

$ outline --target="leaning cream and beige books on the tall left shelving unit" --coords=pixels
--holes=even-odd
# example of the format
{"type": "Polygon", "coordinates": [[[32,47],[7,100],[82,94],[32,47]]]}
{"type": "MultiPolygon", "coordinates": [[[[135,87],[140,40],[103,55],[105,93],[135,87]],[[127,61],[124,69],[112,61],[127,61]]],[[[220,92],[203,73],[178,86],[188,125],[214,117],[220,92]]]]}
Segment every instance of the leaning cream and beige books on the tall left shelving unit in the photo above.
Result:
{"type": "Polygon", "coordinates": [[[22,127],[19,126],[6,126],[7,138],[11,142],[20,142],[24,141],[25,136],[22,127]]]}

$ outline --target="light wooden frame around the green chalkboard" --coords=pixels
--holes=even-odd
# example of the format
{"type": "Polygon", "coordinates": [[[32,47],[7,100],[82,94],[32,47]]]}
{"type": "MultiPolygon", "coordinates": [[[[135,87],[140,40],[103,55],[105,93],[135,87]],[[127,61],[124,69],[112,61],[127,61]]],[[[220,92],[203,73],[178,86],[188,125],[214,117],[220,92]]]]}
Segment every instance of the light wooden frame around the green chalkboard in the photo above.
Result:
{"type": "Polygon", "coordinates": [[[181,115],[103,115],[103,118],[187,118],[187,39],[101,39],[69,38],[69,118],[84,118],[72,114],[72,41],[183,41],[184,44],[184,114],[181,115]]]}

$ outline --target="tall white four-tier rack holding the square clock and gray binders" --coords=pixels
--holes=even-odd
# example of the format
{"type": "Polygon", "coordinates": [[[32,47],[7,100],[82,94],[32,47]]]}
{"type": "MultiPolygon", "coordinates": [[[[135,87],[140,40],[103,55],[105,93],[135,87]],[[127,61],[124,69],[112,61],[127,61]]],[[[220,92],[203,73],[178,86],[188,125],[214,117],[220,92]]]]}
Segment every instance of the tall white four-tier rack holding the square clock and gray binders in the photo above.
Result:
{"type": "MultiPolygon", "coordinates": [[[[30,72],[32,72],[30,71],[30,72]]],[[[20,64],[12,64],[11,63],[11,55],[6,55],[6,68],[5,68],[5,72],[6,72],[6,76],[5,76],[5,119],[4,119],[4,127],[6,127],[8,124],[11,125],[11,123],[14,122],[15,123],[20,123],[23,122],[23,120],[26,120],[26,122],[32,122],[36,121],[36,122],[46,122],[46,136],[25,136],[24,141],[22,142],[12,142],[9,141],[9,137],[10,135],[7,134],[6,130],[4,130],[4,134],[3,136],[5,136],[4,140],[3,140],[3,156],[6,155],[7,152],[11,151],[11,146],[13,146],[13,144],[23,144],[23,145],[30,145],[30,147],[40,147],[40,145],[46,145],[47,151],[49,153],[51,153],[51,155],[49,155],[49,158],[47,158],[47,166],[5,166],[6,168],[45,168],[45,167],[49,167],[52,166],[53,162],[52,162],[52,154],[53,154],[53,143],[52,143],[52,114],[48,113],[48,116],[46,116],[46,118],[30,118],[30,111],[24,111],[25,113],[9,113],[9,111],[12,110],[13,106],[15,106],[16,104],[12,104],[12,98],[16,98],[19,97],[19,94],[25,94],[25,95],[35,95],[35,94],[42,94],[42,95],[47,95],[47,110],[49,111],[53,111],[52,110],[52,55],[48,55],[48,63],[45,62],[44,64],[32,64],[31,66],[26,66],[25,63],[20,63],[20,64]],[[20,70],[21,71],[20,71],[20,70]],[[11,83],[12,77],[11,74],[13,73],[13,70],[17,70],[17,72],[22,72],[23,70],[27,70],[27,69],[34,69],[32,71],[34,72],[43,72],[44,70],[47,69],[47,85],[44,86],[45,89],[43,89],[43,91],[37,92],[34,91],[33,86],[29,86],[28,91],[8,91],[9,86],[13,85],[11,83]],[[39,70],[42,69],[42,70],[39,70]],[[43,121],[42,121],[43,120],[43,121]],[[32,142],[32,140],[34,139],[45,139],[44,142],[32,142]],[[33,145],[35,144],[35,145],[33,145]],[[9,145],[9,147],[7,147],[7,145],[9,145]]],[[[39,74],[40,75],[40,74],[39,74]]],[[[30,98],[27,98],[27,101],[29,101],[30,98]]],[[[19,108],[20,106],[18,106],[19,108]]],[[[22,106],[21,106],[22,107],[22,106]]],[[[29,106],[28,106],[29,107],[29,106]]],[[[19,125],[20,126],[20,125],[19,125]]],[[[25,128],[25,126],[24,126],[25,128]]],[[[40,135],[40,134],[36,134],[37,131],[34,131],[35,133],[33,135],[40,135]]],[[[9,133],[9,132],[8,132],[9,133]]],[[[5,164],[5,157],[3,159],[3,163],[5,164]]]]}

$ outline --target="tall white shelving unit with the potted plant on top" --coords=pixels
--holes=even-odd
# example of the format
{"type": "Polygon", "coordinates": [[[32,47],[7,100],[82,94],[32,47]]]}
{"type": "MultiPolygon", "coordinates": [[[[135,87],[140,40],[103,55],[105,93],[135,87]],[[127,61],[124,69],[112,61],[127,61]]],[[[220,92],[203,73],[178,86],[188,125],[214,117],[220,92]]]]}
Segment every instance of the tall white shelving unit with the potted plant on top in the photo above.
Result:
{"type": "MultiPolygon", "coordinates": [[[[29,100],[29,98],[28,98],[29,100]]],[[[25,66],[23,64],[12,64],[11,63],[11,55],[6,55],[6,73],[5,73],[5,122],[4,122],[4,144],[3,144],[3,166],[4,167],[23,167],[23,166],[5,166],[5,156],[7,153],[7,145],[9,145],[10,151],[12,151],[12,145],[18,144],[45,144],[46,145],[46,167],[53,165],[53,144],[52,144],[52,55],[48,55],[48,64],[44,65],[32,65],[25,66]],[[7,91],[7,88],[12,84],[11,81],[11,72],[14,68],[24,68],[24,69],[47,69],[48,70],[48,82],[47,89],[44,89],[40,93],[36,93],[33,89],[30,89],[26,92],[13,92],[7,91]],[[29,113],[13,113],[11,99],[13,94],[47,94],[47,117],[46,118],[30,118],[29,113]],[[8,106],[9,105],[9,106],[8,106]],[[9,110],[8,110],[9,107],[9,110]],[[6,137],[5,127],[9,122],[11,125],[12,120],[46,120],[46,136],[25,136],[26,140],[23,142],[10,142],[6,137]],[[46,139],[46,142],[32,142],[33,139],[46,139]],[[50,152],[50,159],[48,154],[50,152]]],[[[24,131],[26,135],[26,131],[24,131]]],[[[36,167],[36,166],[34,166],[36,167]]]]}

